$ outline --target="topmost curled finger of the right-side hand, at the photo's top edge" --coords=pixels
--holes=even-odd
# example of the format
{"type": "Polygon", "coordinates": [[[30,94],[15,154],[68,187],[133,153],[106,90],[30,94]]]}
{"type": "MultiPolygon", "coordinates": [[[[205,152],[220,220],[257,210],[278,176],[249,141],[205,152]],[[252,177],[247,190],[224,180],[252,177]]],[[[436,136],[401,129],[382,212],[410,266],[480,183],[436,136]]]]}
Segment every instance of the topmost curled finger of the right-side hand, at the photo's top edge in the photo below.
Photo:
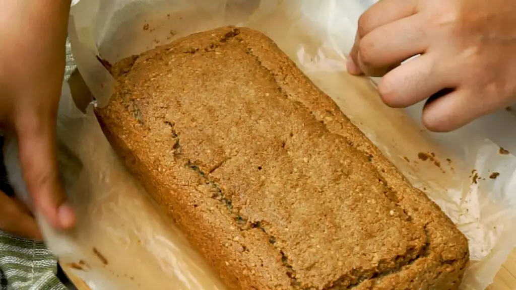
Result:
{"type": "Polygon", "coordinates": [[[376,28],[417,13],[417,0],[381,0],[359,18],[358,35],[362,39],[376,28]]]}

